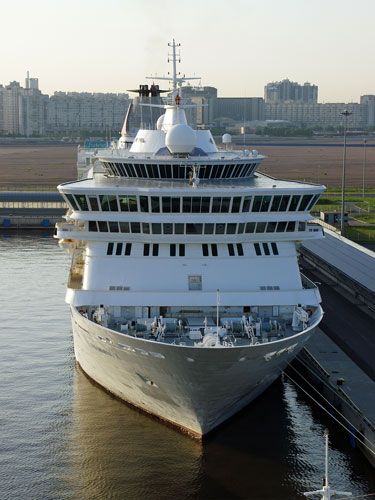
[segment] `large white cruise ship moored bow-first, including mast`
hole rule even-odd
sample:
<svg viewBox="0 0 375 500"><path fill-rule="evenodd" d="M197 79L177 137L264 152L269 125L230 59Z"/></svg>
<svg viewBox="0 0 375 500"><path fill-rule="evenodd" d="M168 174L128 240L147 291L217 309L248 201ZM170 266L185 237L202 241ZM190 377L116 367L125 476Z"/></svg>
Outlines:
<svg viewBox="0 0 375 500"><path fill-rule="evenodd" d="M59 186L55 236L72 254L66 301L76 359L95 382L201 438L262 393L322 319L296 244L323 186L258 172L257 151L218 149L173 99L130 149Z"/></svg>

